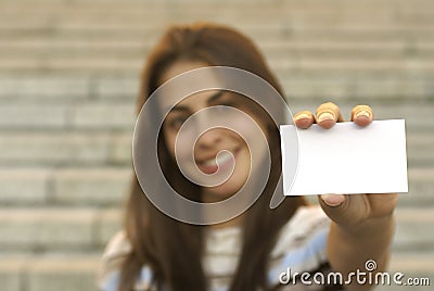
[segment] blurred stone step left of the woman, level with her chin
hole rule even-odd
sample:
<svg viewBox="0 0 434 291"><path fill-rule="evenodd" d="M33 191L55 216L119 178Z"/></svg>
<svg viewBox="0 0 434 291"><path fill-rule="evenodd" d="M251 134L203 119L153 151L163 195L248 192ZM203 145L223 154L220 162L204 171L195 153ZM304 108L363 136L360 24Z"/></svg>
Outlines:
<svg viewBox="0 0 434 291"><path fill-rule="evenodd" d="M131 167L0 169L0 205L119 206Z"/></svg>

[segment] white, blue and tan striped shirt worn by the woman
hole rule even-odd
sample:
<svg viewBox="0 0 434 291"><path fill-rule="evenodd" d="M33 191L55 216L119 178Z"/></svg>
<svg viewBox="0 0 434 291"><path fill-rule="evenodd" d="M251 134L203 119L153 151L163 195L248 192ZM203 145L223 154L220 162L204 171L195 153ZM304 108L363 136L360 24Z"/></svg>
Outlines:
<svg viewBox="0 0 434 291"><path fill-rule="evenodd" d="M330 271L326 254L330 219L319 206L299 207L293 217L280 230L279 239L271 251L268 282L280 287L278 290L341 290L324 286L281 284L281 274L291 269L291 274ZM203 267L209 281L209 291L228 290L241 255L241 229L239 227L209 228L205 235ZM102 257L99 289L117 291L119 265L130 251L124 232L118 232L107 244ZM152 270L143 266L136 291L156 290L152 286Z"/></svg>

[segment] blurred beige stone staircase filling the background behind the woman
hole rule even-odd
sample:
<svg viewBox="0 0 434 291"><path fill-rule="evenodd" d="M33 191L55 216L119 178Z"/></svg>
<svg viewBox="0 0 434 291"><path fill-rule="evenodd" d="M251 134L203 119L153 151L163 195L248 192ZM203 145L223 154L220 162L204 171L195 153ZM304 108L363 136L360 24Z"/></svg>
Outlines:
<svg viewBox="0 0 434 291"><path fill-rule="evenodd" d="M434 283L434 1L0 0L0 289L95 290L132 174L140 69L166 27L193 21L252 37L293 112L334 101L406 118L391 269Z"/></svg>

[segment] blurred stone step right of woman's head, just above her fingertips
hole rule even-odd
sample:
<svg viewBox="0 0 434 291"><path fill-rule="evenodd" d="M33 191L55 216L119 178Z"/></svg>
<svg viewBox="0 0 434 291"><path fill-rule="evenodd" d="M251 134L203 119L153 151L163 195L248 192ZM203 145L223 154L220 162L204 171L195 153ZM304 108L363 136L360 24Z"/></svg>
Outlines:
<svg viewBox="0 0 434 291"><path fill-rule="evenodd" d="M392 76L387 73L365 74L362 72L359 74L348 72L345 76L344 72L333 73L333 71L330 71L329 75L324 75L326 72L322 72L323 74L312 73L278 72L277 75L285 89L288 100L302 103L314 99L321 102L324 97L330 97L336 102L342 100L342 102L374 104L380 102L399 103L408 100L430 102L432 99L431 77L413 78L409 72L407 72L408 76Z"/></svg>

